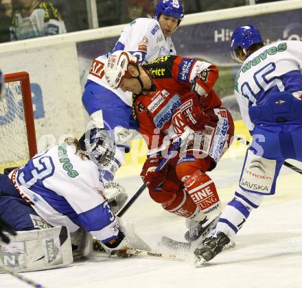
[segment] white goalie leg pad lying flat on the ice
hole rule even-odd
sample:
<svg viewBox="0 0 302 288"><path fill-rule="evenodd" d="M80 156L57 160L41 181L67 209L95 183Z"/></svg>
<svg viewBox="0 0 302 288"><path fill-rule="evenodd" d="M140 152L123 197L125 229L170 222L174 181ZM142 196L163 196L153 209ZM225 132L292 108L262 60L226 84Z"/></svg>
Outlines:
<svg viewBox="0 0 302 288"><path fill-rule="evenodd" d="M19 231L10 243L0 242L0 263L14 272L64 267L73 262L69 230L58 226Z"/></svg>

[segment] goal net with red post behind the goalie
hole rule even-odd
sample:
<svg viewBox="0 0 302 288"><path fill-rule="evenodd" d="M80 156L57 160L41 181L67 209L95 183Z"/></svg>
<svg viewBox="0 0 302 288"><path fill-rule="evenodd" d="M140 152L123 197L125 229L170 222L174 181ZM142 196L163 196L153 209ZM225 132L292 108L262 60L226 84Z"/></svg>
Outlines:
<svg viewBox="0 0 302 288"><path fill-rule="evenodd" d="M0 101L0 173L21 166L37 152L30 77L26 72L4 75Z"/></svg>

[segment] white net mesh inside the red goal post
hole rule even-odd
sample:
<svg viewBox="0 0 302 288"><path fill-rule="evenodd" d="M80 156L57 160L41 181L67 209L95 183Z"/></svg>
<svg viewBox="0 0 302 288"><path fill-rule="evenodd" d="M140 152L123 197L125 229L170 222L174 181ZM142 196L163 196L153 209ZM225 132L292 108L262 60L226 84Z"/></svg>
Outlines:
<svg viewBox="0 0 302 288"><path fill-rule="evenodd" d="M21 166L30 158L20 81L5 83L0 101L0 173Z"/></svg>

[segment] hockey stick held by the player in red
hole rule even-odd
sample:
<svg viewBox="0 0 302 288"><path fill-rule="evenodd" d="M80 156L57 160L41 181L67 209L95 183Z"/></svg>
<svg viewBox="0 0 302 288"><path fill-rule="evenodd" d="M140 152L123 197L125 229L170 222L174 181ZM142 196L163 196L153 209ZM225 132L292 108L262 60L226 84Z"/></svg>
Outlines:
<svg viewBox="0 0 302 288"><path fill-rule="evenodd" d="M163 167L169 162L170 160L169 156L172 154L172 152L175 152L181 146L181 142L183 141L183 139L186 139L191 132L192 132L191 129L185 130L185 132L181 135L181 137L179 137L178 141L174 143L172 149L168 152L167 158L163 158L163 160L161 160L161 163L159 163L159 166L156 167L155 171L160 171L161 169L163 169ZM123 216L126 213L126 211L130 208L130 206L132 206L135 200L137 200L137 197L139 197L139 195L141 195L141 193L143 193L145 189L146 189L146 184L143 183L143 185L141 185L141 188L137 190L137 193L135 193L135 195L132 196L132 198L125 204L125 206L121 208L121 211L117 213L117 217Z"/></svg>

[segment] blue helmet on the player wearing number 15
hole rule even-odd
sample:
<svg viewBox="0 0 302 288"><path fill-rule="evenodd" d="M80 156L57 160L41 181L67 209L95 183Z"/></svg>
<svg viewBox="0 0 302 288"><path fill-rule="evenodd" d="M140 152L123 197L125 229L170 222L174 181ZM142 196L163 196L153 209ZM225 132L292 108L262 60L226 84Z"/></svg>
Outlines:
<svg viewBox="0 0 302 288"><path fill-rule="evenodd" d="M237 63L242 63L236 52L237 47L241 47L246 53L246 49L251 47L251 45L263 42L259 30L254 25L236 27L231 36L231 56L233 60Z"/></svg>

